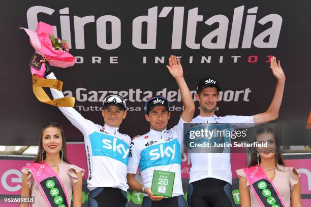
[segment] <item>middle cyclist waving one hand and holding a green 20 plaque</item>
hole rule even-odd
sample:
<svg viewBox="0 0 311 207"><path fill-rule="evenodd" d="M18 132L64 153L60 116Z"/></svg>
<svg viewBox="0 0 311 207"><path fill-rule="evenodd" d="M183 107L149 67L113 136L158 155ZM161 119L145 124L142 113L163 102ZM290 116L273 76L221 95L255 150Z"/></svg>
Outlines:
<svg viewBox="0 0 311 207"><path fill-rule="evenodd" d="M180 171L182 134L183 123L192 120L195 105L183 78L179 59L171 56L167 67L180 89L184 111L178 124L167 130L166 127L171 115L168 100L162 96L155 96L146 102L145 118L150 122L150 131L133 140L127 176L130 188L144 193L143 207L186 206L183 199ZM157 153L161 151L163 153ZM162 155L160 156L160 154ZM141 170L142 184L135 179L138 166ZM175 172L171 198L154 196L151 192L153 170Z"/></svg>

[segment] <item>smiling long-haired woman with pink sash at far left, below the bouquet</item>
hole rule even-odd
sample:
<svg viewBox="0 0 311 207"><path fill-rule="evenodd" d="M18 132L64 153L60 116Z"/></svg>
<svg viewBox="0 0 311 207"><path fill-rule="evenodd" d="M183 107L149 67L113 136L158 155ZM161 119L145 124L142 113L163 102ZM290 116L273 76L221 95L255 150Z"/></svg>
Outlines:
<svg viewBox="0 0 311 207"><path fill-rule="evenodd" d="M72 196L73 206L81 206L84 169L69 164L64 131L58 123L43 126L35 163L21 171L21 196L35 197L33 206L70 206Z"/></svg>

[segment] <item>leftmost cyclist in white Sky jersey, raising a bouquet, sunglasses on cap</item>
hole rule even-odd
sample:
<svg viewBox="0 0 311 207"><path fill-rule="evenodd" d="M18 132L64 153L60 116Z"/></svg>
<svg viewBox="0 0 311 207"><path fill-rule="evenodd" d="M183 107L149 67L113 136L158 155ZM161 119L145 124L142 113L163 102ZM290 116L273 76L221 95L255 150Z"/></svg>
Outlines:
<svg viewBox="0 0 311 207"><path fill-rule="evenodd" d="M46 78L56 79L53 73ZM64 97L55 89L51 88L51 92L54 99ZM85 119L74 108L59 107L59 110L84 136L90 191L88 206L128 206L126 176L131 137L119 132L119 126L127 116L125 100L118 95L105 97L104 126Z"/></svg>

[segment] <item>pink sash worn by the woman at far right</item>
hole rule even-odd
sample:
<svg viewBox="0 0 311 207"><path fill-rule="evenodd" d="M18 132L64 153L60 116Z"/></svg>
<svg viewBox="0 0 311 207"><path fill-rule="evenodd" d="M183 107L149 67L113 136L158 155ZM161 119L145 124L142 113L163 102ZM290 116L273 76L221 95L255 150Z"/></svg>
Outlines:
<svg viewBox="0 0 311 207"><path fill-rule="evenodd" d="M246 167L243 170L261 206L286 207L282 196L273 182L268 179L261 165Z"/></svg>

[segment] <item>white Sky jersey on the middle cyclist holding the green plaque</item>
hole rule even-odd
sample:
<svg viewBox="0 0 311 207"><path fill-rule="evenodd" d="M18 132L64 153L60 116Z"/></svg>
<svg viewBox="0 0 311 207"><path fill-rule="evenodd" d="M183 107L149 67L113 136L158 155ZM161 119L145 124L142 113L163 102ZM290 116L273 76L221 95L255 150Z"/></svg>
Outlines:
<svg viewBox="0 0 311 207"><path fill-rule="evenodd" d="M148 133L134 139L131 144L128 173L136 174L139 166L142 184L151 188L153 170L175 172L172 196L183 195L180 171L183 123L180 118L178 124L169 130L150 129Z"/></svg>

